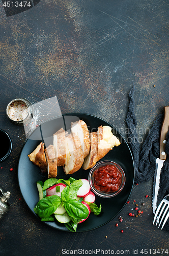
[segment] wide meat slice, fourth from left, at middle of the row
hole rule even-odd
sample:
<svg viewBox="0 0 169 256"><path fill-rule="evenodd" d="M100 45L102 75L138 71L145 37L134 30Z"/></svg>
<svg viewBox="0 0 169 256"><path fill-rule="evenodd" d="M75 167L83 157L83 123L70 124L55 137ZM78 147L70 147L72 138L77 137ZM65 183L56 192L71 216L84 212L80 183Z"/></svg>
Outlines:
<svg viewBox="0 0 169 256"><path fill-rule="evenodd" d="M79 170L83 164L83 152L78 136L72 134L66 137L66 162L64 165L64 172L66 174L73 174Z"/></svg>

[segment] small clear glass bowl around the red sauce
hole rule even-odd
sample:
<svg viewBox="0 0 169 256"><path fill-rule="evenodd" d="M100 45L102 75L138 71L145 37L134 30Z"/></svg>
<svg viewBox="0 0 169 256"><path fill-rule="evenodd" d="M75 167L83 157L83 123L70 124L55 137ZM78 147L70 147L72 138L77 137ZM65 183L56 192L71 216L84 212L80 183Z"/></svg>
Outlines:
<svg viewBox="0 0 169 256"><path fill-rule="evenodd" d="M106 166L106 165L114 165L118 168L118 170L121 172L122 174L122 181L121 181L121 184L119 186L119 189L117 191L112 191L112 192L104 192L104 191L100 191L98 189L95 188L95 185L94 185L94 172L96 169L100 168L101 166ZM122 189L124 188L124 185L125 185L125 182L126 182L126 177L125 177L125 173L124 173L124 170L122 169L122 167L115 163L115 162L112 162L112 161L101 161L99 163L97 163L91 170L90 170L90 173L89 173L89 183L90 183L90 187L91 189L93 190L93 192L99 196L99 197L103 197L103 198L110 198L110 197L115 197L117 196L121 191Z"/></svg>

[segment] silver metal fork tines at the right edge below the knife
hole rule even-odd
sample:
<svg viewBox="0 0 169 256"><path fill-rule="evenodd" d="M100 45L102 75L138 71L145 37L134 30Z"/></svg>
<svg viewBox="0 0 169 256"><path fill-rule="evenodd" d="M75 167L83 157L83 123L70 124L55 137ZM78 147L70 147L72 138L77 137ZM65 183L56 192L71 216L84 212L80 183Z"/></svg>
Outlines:
<svg viewBox="0 0 169 256"><path fill-rule="evenodd" d="M163 226L165 225L165 222L167 221L168 217L169 217L169 194L162 199L161 203L156 209L153 225L155 222L156 222L156 226L158 225L158 227L160 227L160 225L162 224L161 229L163 229Z"/></svg>

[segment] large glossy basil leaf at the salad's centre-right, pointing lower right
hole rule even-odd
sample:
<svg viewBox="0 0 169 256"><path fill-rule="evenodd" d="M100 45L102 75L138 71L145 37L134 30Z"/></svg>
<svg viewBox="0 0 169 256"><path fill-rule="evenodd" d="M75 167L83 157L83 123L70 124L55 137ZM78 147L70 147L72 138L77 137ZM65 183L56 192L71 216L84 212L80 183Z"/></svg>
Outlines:
<svg viewBox="0 0 169 256"><path fill-rule="evenodd" d="M88 208L75 199L69 199L64 203L67 214L76 219L86 219L89 215Z"/></svg>

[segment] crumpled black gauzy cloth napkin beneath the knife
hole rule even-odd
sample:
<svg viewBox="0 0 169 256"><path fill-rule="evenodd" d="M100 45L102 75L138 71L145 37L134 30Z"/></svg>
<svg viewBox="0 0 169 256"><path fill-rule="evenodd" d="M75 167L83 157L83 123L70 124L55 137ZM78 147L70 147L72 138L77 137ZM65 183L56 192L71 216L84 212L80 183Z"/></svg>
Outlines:
<svg viewBox="0 0 169 256"><path fill-rule="evenodd" d="M129 107L126 118L128 133L128 145L133 155L135 179L136 183L146 182L150 178L154 177L154 171L156 168L156 158L159 157L159 136L164 114L159 114L150 129L147 138L143 142L142 147L138 142L137 136L137 120L134 114L134 90L135 87L129 92ZM166 160L161 168L160 186L157 197L157 205L161 202L164 196L169 194L169 132L166 136ZM169 231L169 220L166 222L164 228Z"/></svg>

